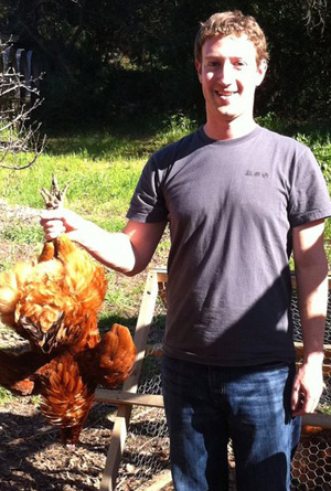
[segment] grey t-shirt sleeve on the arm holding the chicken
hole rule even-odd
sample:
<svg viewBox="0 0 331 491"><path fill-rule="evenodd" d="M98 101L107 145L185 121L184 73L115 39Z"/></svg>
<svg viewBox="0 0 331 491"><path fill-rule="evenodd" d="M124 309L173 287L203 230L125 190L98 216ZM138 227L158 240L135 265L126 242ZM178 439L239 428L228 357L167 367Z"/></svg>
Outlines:
<svg viewBox="0 0 331 491"><path fill-rule="evenodd" d="M132 195L127 218L135 222L166 222L168 210L162 195L162 171L152 156L145 166Z"/></svg>

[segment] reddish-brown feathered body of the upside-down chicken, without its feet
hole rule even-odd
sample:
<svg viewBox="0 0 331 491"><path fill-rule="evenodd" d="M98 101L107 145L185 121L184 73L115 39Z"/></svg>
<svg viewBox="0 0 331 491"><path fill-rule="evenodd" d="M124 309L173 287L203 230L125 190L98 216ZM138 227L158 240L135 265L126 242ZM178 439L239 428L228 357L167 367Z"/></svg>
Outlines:
<svg viewBox="0 0 331 491"><path fill-rule="evenodd" d="M64 444L78 441L97 385L117 387L135 363L127 328L114 324L100 337L106 288L104 267L66 234L46 242L36 260L0 274L1 321L30 342L20 354L0 350L0 385L41 395Z"/></svg>

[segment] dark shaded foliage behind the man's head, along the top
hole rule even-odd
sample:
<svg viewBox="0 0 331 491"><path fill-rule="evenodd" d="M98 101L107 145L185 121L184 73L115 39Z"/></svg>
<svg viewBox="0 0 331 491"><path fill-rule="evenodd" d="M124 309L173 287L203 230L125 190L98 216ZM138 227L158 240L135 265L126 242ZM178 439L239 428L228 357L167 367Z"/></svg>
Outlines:
<svg viewBox="0 0 331 491"><path fill-rule="evenodd" d="M194 70L199 23L242 10L266 32L270 63L257 111L331 116L331 7L309 0L2 0L0 31L33 49L46 76L40 116L57 128L182 110L204 114ZM305 74L305 75L302 75Z"/></svg>

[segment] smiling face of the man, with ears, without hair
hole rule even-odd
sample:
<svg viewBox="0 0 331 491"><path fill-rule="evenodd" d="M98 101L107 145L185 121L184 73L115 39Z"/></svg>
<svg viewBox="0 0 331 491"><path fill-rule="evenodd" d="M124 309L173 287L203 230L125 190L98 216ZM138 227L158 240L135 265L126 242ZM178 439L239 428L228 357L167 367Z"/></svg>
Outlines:
<svg viewBox="0 0 331 491"><path fill-rule="evenodd" d="M256 86L267 64L256 64L256 50L246 34L214 36L202 46L202 61L195 61L206 103L207 120L232 121L253 118Z"/></svg>

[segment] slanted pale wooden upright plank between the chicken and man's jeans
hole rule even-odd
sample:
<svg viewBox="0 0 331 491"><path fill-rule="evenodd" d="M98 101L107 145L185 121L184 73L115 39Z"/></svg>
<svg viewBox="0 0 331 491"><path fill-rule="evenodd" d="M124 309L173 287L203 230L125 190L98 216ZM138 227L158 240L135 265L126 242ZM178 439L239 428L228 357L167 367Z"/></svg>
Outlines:
<svg viewBox="0 0 331 491"><path fill-rule="evenodd" d="M158 296L157 273L151 270L146 280L146 286L141 299L139 316L137 320L134 341L137 348L137 356L134 370L129 378L124 384L124 391L137 393L139 376L146 351L147 338L153 318L154 306ZM115 419L111 439L108 448L105 470L103 473L100 491L114 491L120 459L124 452L127 427L131 416L132 405L120 404Z"/></svg>

